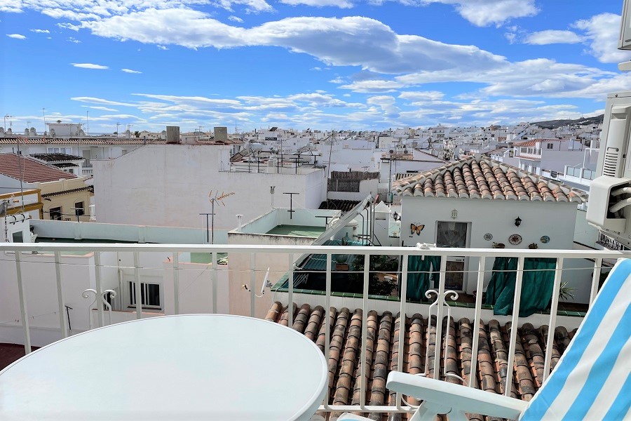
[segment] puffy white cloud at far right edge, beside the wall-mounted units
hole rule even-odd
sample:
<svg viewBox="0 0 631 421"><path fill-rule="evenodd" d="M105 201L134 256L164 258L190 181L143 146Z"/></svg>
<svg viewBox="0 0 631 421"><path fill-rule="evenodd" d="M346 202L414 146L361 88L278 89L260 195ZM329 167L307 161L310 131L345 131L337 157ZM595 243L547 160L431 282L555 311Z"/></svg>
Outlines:
<svg viewBox="0 0 631 421"><path fill-rule="evenodd" d="M574 22L574 27L585 31L589 53L604 63L618 63L629 60L631 54L618 50L620 15L602 13L590 19Z"/></svg>

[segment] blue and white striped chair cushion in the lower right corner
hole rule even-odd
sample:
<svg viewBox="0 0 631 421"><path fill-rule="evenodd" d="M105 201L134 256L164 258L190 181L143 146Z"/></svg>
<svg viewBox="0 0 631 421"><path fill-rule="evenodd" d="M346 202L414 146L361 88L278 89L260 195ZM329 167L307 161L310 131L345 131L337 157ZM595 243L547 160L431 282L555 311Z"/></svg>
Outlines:
<svg viewBox="0 0 631 421"><path fill-rule="evenodd" d="M618 421L631 416L630 301L631 259L625 259L611 270L521 421Z"/></svg>

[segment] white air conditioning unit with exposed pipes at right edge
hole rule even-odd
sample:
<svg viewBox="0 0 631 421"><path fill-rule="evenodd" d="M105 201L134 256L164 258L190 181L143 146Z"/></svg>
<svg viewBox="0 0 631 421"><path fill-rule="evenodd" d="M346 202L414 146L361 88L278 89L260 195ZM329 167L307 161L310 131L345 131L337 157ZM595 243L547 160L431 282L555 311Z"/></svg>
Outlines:
<svg viewBox="0 0 631 421"><path fill-rule="evenodd" d="M587 220L631 244L631 92L607 96L597 174L590 186Z"/></svg>

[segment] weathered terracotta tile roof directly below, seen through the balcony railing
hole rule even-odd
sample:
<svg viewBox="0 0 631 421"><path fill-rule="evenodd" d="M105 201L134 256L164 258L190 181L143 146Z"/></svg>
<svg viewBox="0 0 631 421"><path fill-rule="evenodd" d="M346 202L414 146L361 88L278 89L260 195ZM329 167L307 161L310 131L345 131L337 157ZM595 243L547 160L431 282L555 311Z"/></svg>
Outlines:
<svg viewBox="0 0 631 421"><path fill-rule="evenodd" d="M289 312L280 302L274 302L266 319L283 326L291 326L303 333L306 338L315 342L320 350L325 349L325 310L321 306L313 307L305 304L298 308L295 304L294 320L288 323ZM330 318L330 355L328 403L335 405L358 405L360 403L360 372L362 310L351 311L347 308L331 307ZM446 321L447 319L445 319ZM444 373L445 354L447 354L447 373L463 377L469 381L471 366L471 347L473 331L469 319L449 321L447 340L442 341L441 373ZM386 378L391 370L405 373L425 373L426 355L429 354L430 369L433 376L435 347L426 346L426 338L434 338L436 319L431 323L420 314L405 318L405 344L403 349L403 366L398 367L400 316L391 312L378 314L370 311L367 314L367 390L368 405L394 405L396 394L386 389ZM477 385L490 393L503 394L506 385L506 369L508 366L508 338L510 323L501 325L496 320L487 324L481 323L480 340L477 349ZM559 361L576 330L568 332L566 328L555 329L555 343L552 349L552 368ZM535 328L530 323L518 330L515 347L515 365L513 379L515 386L510 395L517 399L529 401L543 382L543 364L545 343L548 338L548 327ZM280 358L280 357L279 357ZM460 383L455 377L440 376L441 380ZM414 399L409 403L418 404ZM381 417L374 418L381 419ZM470 420L483 418L470 417Z"/></svg>

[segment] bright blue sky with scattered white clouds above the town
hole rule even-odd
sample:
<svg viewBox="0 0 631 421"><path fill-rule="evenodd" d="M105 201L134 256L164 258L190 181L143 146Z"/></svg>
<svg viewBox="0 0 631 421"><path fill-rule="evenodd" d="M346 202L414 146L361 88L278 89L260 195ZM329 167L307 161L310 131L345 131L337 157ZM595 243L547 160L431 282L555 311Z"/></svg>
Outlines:
<svg viewBox="0 0 631 421"><path fill-rule="evenodd" d="M599 114L622 0L1 0L0 112L90 133ZM42 112L44 109L44 112Z"/></svg>

